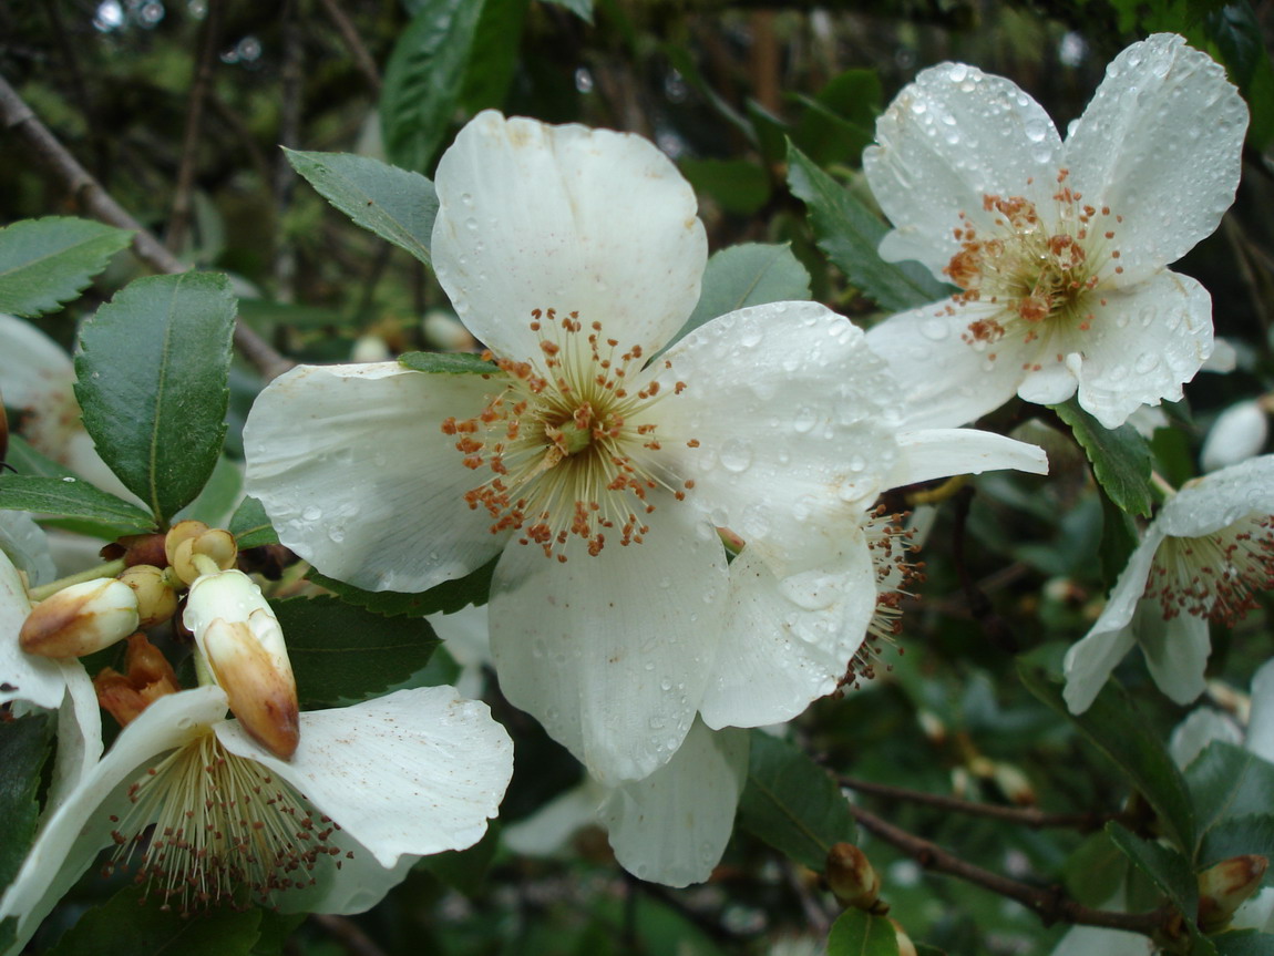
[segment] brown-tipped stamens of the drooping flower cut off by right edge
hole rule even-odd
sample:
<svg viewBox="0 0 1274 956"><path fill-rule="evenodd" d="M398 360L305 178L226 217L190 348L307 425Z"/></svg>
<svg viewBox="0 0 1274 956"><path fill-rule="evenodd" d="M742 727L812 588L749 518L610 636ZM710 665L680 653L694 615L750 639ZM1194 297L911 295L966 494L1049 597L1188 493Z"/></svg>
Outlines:
<svg viewBox="0 0 1274 956"><path fill-rule="evenodd" d="M1163 619L1185 612L1233 625L1256 607L1252 591L1274 588L1274 515L1251 514L1198 538L1164 538L1154 552L1147 598Z"/></svg>

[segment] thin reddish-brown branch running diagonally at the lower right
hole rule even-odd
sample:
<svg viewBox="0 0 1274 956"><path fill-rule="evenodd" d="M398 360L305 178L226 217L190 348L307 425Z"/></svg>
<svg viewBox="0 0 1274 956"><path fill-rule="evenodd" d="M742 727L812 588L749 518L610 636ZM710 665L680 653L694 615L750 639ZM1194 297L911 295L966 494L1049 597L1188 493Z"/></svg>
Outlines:
<svg viewBox="0 0 1274 956"><path fill-rule="evenodd" d="M992 873L989 869L982 869L973 863L967 863L959 857L948 853L929 840L882 820L861 807L856 807L852 803L848 806L850 812L854 813L855 820L859 821L864 830L897 846L925 869L931 869L935 873L947 873L1000 896L1017 900L1040 916L1045 925L1063 922L1074 925L1122 929L1129 933L1154 936L1157 933L1171 932L1176 922L1177 914L1171 906L1162 906L1148 913L1115 913L1113 910L1094 910L1089 906L1083 906L1065 896L1059 887L1031 886L1029 883Z"/></svg>

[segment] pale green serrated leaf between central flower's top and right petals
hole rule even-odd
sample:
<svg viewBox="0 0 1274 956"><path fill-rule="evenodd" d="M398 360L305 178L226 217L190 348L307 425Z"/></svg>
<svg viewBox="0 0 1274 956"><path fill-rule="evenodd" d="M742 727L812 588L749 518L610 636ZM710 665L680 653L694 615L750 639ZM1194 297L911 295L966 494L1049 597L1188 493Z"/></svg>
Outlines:
<svg viewBox="0 0 1274 956"><path fill-rule="evenodd" d="M722 249L708 259L699 301L669 345L736 308L805 300L809 300L809 273L786 242Z"/></svg>

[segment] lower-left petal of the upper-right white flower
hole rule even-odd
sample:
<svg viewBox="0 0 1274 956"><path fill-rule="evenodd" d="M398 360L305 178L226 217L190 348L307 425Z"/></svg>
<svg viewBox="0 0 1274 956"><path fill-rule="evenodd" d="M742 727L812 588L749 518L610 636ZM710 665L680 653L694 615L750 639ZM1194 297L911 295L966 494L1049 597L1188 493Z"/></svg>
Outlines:
<svg viewBox="0 0 1274 956"><path fill-rule="evenodd" d="M868 345L902 385L910 427L972 422L1012 399L1022 381L1019 343L1003 339L987 349L961 338L970 322L996 315L999 306L971 303L949 315L949 305L920 306L868 330Z"/></svg>

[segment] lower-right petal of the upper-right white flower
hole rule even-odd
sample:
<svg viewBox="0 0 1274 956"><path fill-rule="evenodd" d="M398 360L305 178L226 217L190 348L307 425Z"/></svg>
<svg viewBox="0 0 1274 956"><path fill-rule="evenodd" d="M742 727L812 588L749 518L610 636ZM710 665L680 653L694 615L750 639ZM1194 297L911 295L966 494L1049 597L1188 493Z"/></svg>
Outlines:
<svg viewBox="0 0 1274 956"><path fill-rule="evenodd" d="M1093 305L1079 368L1079 404L1107 428L1142 405L1181 398L1212 353L1212 297L1189 275L1162 272Z"/></svg>

